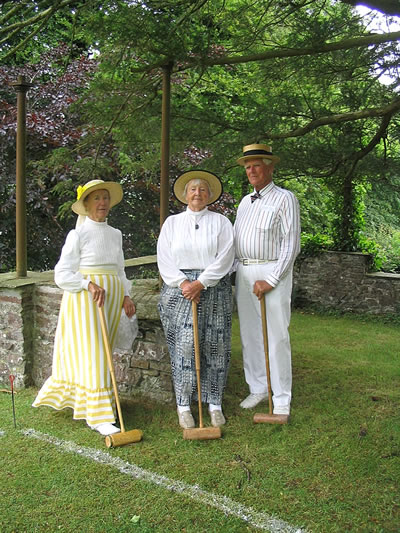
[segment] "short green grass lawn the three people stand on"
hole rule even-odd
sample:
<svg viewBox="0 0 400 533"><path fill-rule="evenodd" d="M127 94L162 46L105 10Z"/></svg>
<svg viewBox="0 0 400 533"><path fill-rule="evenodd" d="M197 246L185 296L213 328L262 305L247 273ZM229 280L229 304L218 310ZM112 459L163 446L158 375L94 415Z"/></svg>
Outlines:
<svg viewBox="0 0 400 533"><path fill-rule="evenodd" d="M107 450L69 410L30 407L36 391L0 394L0 531L257 531L178 491L29 438L34 428L169 480L226 496L311 532L400 531L400 332L397 325L295 312L292 416L254 425L235 318L223 438L184 441L173 407L123 402L138 444ZM208 416L205 413L205 423ZM140 517L140 518L137 518Z"/></svg>

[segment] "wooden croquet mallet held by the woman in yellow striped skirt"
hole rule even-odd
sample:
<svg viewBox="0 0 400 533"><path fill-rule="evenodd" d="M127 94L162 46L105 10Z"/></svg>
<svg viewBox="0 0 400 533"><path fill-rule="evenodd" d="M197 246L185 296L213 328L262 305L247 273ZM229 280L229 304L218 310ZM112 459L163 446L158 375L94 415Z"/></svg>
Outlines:
<svg viewBox="0 0 400 533"><path fill-rule="evenodd" d="M118 446L124 446L125 444L133 444L134 442L139 442L142 440L143 432L140 429L132 429L130 431L125 431L124 420L122 418L121 404L119 401L119 394L117 388L117 381L115 379L114 364L111 354L111 345L110 339L108 336L107 323L104 316L104 307L99 307L99 316L101 324L101 333L103 336L104 348L107 355L108 368L111 374L111 381L114 389L115 403L117 405L119 423L121 426L121 433L114 433L113 435L107 435L105 438L105 443L107 448L116 448Z"/></svg>

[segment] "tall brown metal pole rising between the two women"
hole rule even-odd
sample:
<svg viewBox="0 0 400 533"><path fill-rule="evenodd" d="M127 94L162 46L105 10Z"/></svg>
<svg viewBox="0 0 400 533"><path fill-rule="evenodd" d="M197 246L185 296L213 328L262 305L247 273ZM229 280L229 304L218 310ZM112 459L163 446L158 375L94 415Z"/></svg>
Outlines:
<svg viewBox="0 0 400 533"><path fill-rule="evenodd" d="M161 179L160 179L160 228L168 216L169 205L169 138L171 108L172 63L163 67L161 110Z"/></svg>

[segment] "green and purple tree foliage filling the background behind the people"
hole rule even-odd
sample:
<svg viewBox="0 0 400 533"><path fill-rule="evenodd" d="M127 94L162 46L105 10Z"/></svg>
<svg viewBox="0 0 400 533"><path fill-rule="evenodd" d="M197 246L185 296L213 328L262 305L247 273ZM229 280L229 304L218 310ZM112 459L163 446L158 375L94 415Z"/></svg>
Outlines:
<svg viewBox="0 0 400 533"><path fill-rule="evenodd" d="M42 14L51 4L25 2L25 18L30 11ZM368 110L395 100L395 84L384 86L377 75L379 69L393 71L398 52L394 44L383 43L317 53L327 41L366 34L364 21L348 5L323 0L90 0L63 6L54 11L40 39L8 58L10 70L1 79L7 121L0 124L5 141L0 170L11 184L0 189L5 202L14 190L15 109L8 86L17 74L13 68L18 66L37 84L29 92L28 122L35 124L30 138L35 142L28 147L29 227L40 226L45 242L54 246L44 257L35 233L29 242L32 267L54 264L54 250L73 226L69 207L76 187L93 177L123 183L124 204L113 210L112 219L124 232L126 254L154 252L162 74L170 65L171 184L188 168L216 172L227 193L217 207L233 219L233 206L248 192L243 169L236 165L242 146L271 142L281 156L274 180L298 196L305 234L324 235L343 251L373 250L370 241L376 241L386 264L394 268L391 240L374 234L379 217L371 198L388 206L379 227L390 228L389 233L398 229L393 200L400 166L398 115L383 128L381 114ZM10 9L11 3L2 5L0 19ZM21 7L10 24L19 24L23 12ZM3 51L27 35L28 27L18 27L20 36L9 37ZM316 53L289 54L302 49ZM266 51L282 57L248 61ZM237 56L246 61L210 63ZM360 110L365 117L354 120L351 114ZM370 189L377 177L385 185ZM9 205L2 212L8 219ZM171 198L170 212L179 209ZM39 210L46 216L38 215ZM0 222L3 250L13 247L8 226L9 221ZM315 237L306 248L317 244ZM12 267L3 257L1 268Z"/></svg>

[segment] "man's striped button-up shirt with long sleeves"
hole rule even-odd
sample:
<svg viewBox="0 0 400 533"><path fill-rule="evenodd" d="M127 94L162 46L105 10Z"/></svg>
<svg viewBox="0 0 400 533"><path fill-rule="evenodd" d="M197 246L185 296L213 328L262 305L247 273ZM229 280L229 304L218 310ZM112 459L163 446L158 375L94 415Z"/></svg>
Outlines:
<svg viewBox="0 0 400 533"><path fill-rule="evenodd" d="M300 209L295 195L270 182L251 202L251 194L239 204L235 222L238 259L276 261L266 281L275 287L293 267L300 251Z"/></svg>

